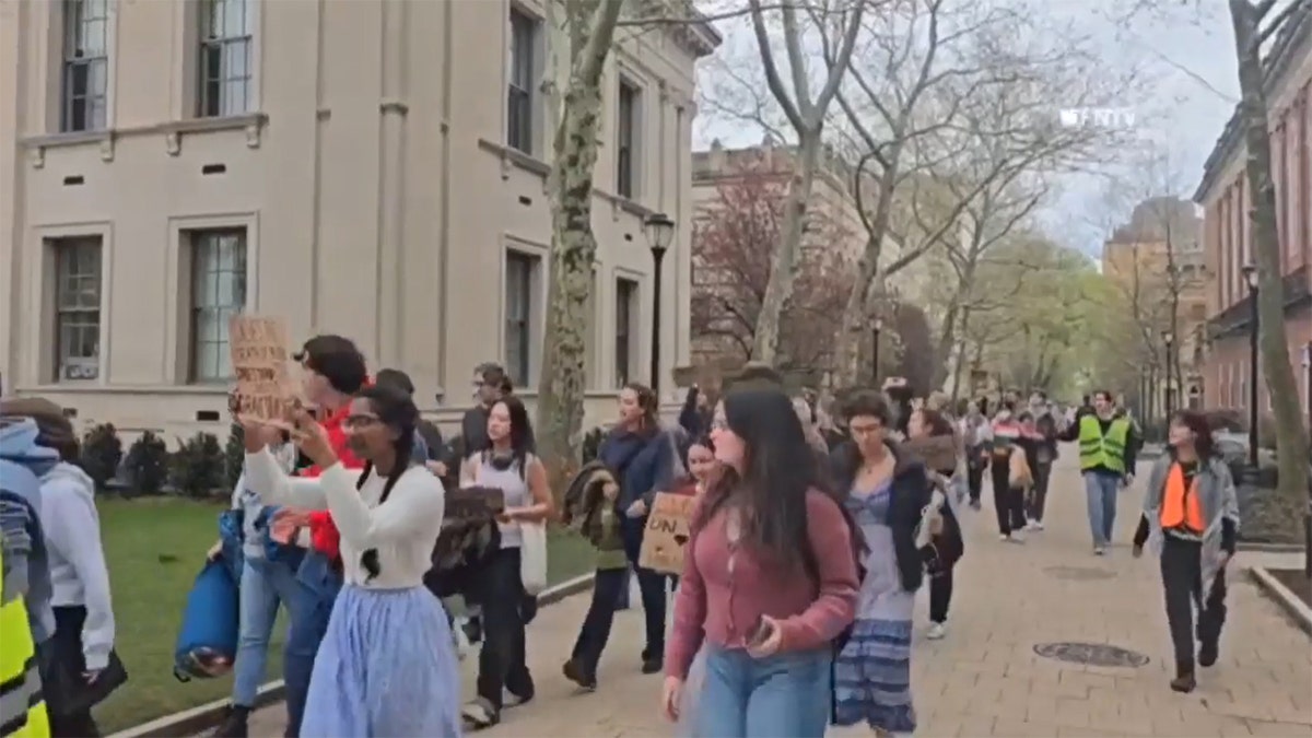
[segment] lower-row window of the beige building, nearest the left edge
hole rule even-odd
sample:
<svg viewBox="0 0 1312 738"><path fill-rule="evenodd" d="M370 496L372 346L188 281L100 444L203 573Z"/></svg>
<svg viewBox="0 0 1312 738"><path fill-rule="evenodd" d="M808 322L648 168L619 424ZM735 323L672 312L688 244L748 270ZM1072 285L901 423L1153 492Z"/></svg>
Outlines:
<svg viewBox="0 0 1312 738"><path fill-rule="evenodd" d="M55 378L100 376L100 236L55 247Z"/></svg>

